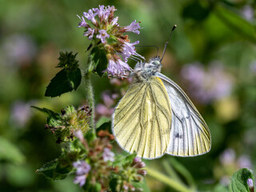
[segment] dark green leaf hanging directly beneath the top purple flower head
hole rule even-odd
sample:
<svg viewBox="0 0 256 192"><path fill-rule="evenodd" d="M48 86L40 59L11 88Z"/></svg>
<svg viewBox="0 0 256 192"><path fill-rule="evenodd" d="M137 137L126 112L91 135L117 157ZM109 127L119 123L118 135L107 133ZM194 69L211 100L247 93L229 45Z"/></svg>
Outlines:
<svg viewBox="0 0 256 192"><path fill-rule="evenodd" d="M90 52L91 66L96 70L97 74L102 77L107 67L106 51L95 46Z"/></svg>

